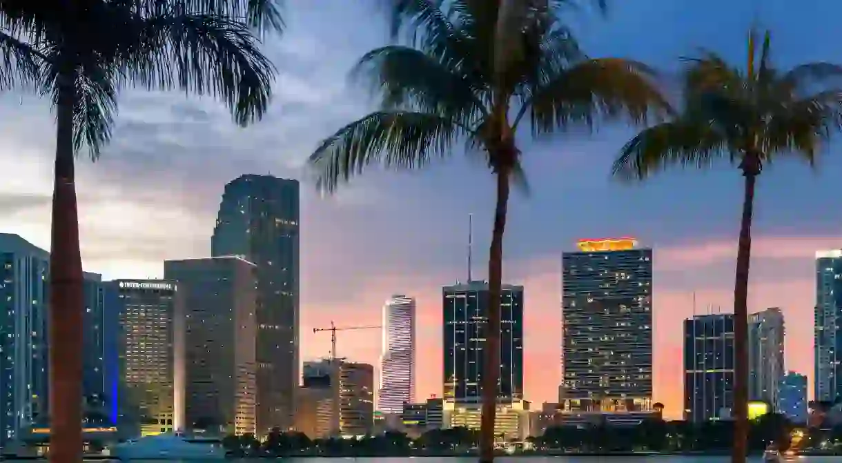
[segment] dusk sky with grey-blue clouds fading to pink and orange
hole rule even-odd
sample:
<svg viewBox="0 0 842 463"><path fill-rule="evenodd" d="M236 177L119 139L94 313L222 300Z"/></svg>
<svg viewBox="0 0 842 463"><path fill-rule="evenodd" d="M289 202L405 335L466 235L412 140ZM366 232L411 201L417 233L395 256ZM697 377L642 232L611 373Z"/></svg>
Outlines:
<svg viewBox="0 0 842 463"><path fill-rule="evenodd" d="M467 215L474 214L474 275L486 274L493 182L461 152L417 173L372 169L332 198L303 171L322 137L373 108L346 73L386 41L371 0L288 0L289 24L265 50L279 68L270 114L248 129L221 104L180 93L126 91L115 140L99 162L82 159L79 207L85 269L104 278L163 275L163 260L210 255L224 185L243 173L300 178L302 359L328 354L338 326L376 325L394 293L418 300L418 398L441 394L441 286L466 277ZM842 3L824 0L616 0L607 19L570 18L591 56L621 56L674 71L705 46L744 61L746 31L770 28L781 66L842 62ZM49 248L53 119L46 100L0 96L0 231ZM530 194L514 194L504 279L525 285L525 389L557 399L561 376L561 253L581 237L633 236L654 248L655 400L681 409L681 324L708 305L732 310L742 177L720 164L618 184L610 163L632 135L531 142L520 136ZM814 253L842 247L842 142L815 171L775 162L759 178L749 311L786 315L786 367L813 381ZM377 364L376 332L338 335L338 354ZM812 388L812 386L811 386ZM812 392L811 392L812 394Z"/></svg>

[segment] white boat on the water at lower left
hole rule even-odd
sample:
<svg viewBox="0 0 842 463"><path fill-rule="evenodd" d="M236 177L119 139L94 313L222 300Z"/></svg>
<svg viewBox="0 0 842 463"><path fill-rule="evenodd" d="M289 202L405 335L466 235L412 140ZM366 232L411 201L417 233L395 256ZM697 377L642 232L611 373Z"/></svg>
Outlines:
<svg viewBox="0 0 842 463"><path fill-rule="evenodd" d="M187 439L182 434L158 434L127 440L110 450L116 460L224 460L218 440Z"/></svg>

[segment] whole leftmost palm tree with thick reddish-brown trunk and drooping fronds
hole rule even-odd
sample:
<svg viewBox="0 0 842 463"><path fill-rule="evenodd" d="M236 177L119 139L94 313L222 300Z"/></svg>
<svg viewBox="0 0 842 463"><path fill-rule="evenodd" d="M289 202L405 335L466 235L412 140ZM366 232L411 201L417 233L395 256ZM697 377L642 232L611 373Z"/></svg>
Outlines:
<svg viewBox="0 0 842 463"><path fill-rule="evenodd" d="M237 123L269 103L274 69L255 34L281 26L276 0L0 0L0 86L34 85L56 109L50 293L51 460L82 450L83 276L75 155L111 137L120 89L221 98Z"/></svg>

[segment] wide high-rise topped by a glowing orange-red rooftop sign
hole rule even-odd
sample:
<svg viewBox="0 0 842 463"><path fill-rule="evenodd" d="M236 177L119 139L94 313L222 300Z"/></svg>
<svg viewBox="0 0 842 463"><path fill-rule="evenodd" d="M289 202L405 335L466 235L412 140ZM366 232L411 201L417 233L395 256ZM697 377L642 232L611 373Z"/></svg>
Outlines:
<svg viewBox="0 0 842 463"><path fill-rule="evenodd" d="M580 240L562 255L566 412L652 409L652 249L633 238Z"/></svg>

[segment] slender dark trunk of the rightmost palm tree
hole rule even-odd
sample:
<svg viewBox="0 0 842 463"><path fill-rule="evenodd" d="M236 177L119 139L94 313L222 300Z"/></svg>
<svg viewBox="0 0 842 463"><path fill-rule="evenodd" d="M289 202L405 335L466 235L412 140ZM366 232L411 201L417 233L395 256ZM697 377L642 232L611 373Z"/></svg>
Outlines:
<svg viewBox="0 0 842 463"><path fill-rule="evenodd" d="M751 263L751 216L754 210L754 184L760 171L759 158L746 155L741 168L745 177L743 219L737 247L737 274L734 281L734 442L732 463L745 463L749 437L749 265Z"/></svg>

